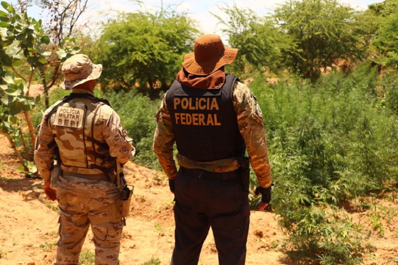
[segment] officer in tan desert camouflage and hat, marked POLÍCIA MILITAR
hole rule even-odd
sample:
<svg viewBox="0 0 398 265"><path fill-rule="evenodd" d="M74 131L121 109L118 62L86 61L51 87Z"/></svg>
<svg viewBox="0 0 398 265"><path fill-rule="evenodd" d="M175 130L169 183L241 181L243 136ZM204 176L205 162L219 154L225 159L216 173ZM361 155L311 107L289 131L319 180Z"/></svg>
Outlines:
<svg viewBox="0 0 398 265"><path fill-rule="evenodd" d="M62 71L64 88L73 92L45 111L34 152L45 194L61 210L56 264L79 263L91 225L96 265L116 265L123 220L114 164L132 159L135 149L109 103L94 97L102 65L77 54ZM55 156L63 172L56 190L50 186Z"/></svg>

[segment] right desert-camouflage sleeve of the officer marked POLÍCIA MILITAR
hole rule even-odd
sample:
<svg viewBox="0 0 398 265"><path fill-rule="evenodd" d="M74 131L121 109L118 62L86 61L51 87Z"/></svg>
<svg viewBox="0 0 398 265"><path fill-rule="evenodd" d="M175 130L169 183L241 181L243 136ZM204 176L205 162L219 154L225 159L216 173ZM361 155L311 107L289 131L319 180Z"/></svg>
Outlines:
<svg viewBox="0 0 398 265"><path fill-rule="evenodd" d="M121 126L119 115L114 110L110 110L110 112L104 123L103 137L109 145L110 156L115 157L117 162L125 164L135 154L133 139L127 135L127 131ZM102 113L106 113L106 109L101 112L101 115Z"/></svg>

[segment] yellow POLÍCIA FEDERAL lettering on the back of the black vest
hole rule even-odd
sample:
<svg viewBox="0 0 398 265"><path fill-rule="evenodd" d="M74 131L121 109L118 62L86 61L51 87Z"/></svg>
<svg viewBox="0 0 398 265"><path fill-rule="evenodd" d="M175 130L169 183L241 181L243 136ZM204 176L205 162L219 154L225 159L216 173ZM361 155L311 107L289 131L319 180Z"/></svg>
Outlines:
<svg viewBox="0 0 398 265"><path fill-rule="evenodd" d="M173 99L176 125L221 126L221 96Z"/></svg>

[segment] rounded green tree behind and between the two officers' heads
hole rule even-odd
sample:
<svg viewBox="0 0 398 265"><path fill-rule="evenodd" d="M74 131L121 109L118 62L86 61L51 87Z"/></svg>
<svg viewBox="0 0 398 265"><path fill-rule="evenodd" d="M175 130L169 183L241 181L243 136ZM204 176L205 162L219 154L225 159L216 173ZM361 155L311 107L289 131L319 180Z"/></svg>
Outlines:
<svg viewBox="0 0 398 265"><path fill-rule="evenodd" d="M193 23L186 13L162 8L154 13L121 13L105 24L92 55L103 65L103 87L138 87L144 94L167 89L183 55L192 52L199 33Z"/></svg>

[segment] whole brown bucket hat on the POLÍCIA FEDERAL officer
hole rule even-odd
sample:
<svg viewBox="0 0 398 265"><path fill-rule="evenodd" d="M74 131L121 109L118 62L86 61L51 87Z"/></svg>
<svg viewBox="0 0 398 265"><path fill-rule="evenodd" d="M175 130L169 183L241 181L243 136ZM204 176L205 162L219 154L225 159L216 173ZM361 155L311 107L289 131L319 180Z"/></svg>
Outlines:
<svg viewBox="0 0 398 265"><path fill-rule="evenodd" d="M238 49L224 47L220 36L206 34L195 40L194 52L184 57L184 69L193 75L209 75L220 67L231 64Z"/></svg>

